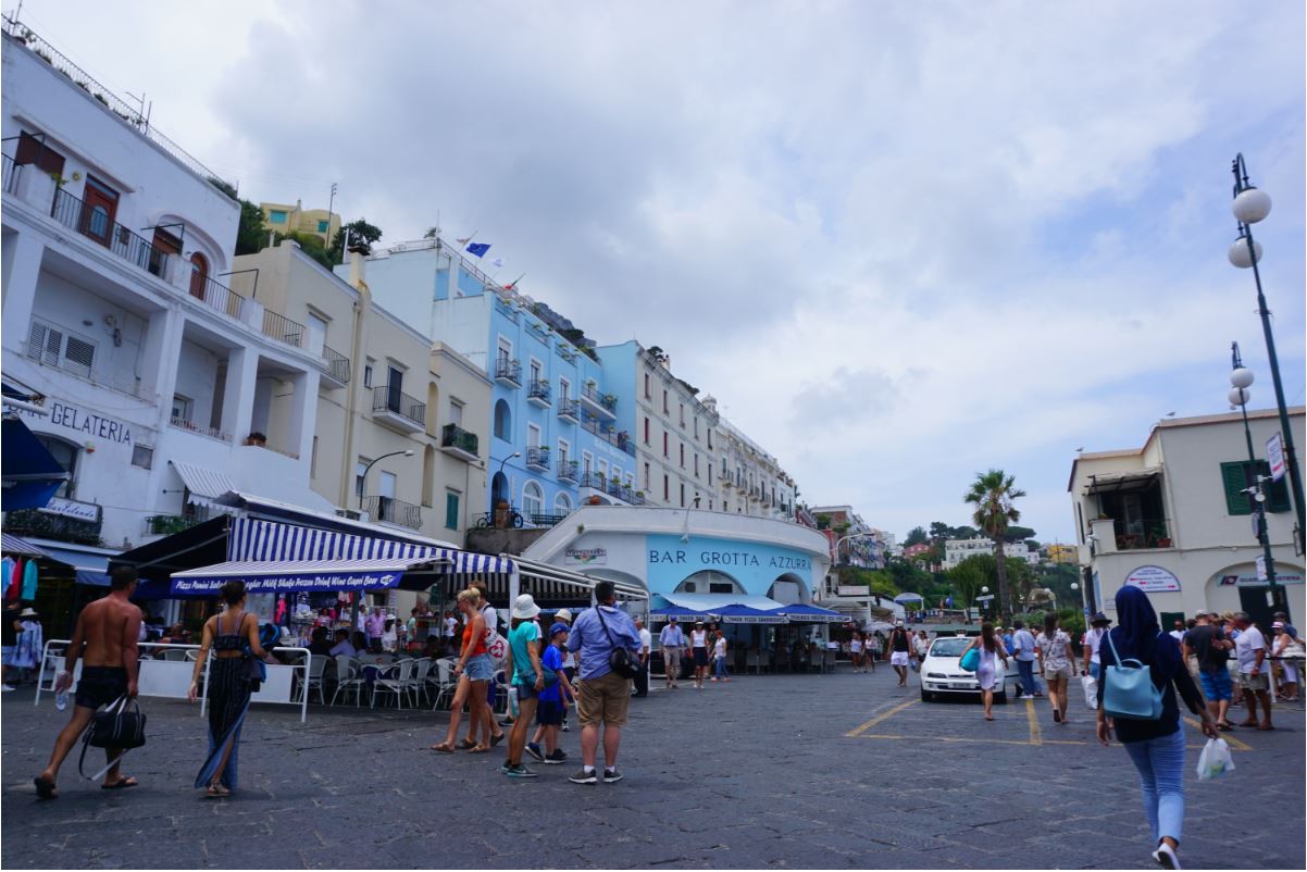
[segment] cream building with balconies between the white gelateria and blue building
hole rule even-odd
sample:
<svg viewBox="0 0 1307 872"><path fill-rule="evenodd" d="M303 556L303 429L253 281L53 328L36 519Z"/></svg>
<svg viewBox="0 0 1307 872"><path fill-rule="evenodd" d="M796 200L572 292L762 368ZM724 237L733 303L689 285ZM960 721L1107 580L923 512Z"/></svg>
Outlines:
<svg viewBox="0 0 1307 872"><path fill-rule="evenodd" d="M490 380L372 305L362 263L345 281L286 241L234 269L257 269L248 293L323 336L312 489L369 520L461 545L486 488Z"/></svg>

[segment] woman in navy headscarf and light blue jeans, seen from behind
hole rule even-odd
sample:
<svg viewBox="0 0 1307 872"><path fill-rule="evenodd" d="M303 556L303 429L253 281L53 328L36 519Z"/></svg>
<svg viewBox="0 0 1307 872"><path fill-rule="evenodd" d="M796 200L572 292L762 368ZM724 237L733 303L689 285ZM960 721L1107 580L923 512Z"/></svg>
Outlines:
<svg viewBox="0 0 1307 872"><path fill-rule="evenodd" d="M1108 744L1111 731L1116 729L1116 737L1125 745L1131 762L1140 773L1144 813L1157 842L1153 859L1163 868L1178 869L1180 863L1175 851L1180 846L1184 822L1184 729L1180 727L1175 692L1179 690L1189 711L1202 719L1204 735L1216 739L1219 733L1184 665L1179 643L1158 626L1148 594L1131 584L1119 590L1116 616L1119 625L1098 650L1103 675L1098 682L1098 740ZM1149 667L1153 685L1162 693L1162 716L1157 720L1108 720L1103 711L1108 667L1131 659Z"/></svg>

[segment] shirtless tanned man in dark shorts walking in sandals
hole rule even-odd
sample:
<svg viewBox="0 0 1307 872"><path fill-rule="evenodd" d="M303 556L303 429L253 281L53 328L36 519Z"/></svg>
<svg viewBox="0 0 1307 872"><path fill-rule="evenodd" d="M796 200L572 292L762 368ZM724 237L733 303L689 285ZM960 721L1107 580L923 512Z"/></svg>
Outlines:
<svg viewBox="0 0 1307 872"><path fill-rule="evenodd" d="M136 696L136 642L141 629L141 609L131 603L135 591L136 570L119 566L114 570L108 596L95 600L77 616L77 626L64 655L64 671L55 680L55 692L59 693L72 684L78 656L82 659L82 675L77 682L73 715L55 739L50 765L33 779L41 799L59 796L55 790L59 767L86 732L95 710L114 702L124 693L128 697ZM82 651L84 643L85 651ZM106 748L105 760L112 762L122 753L122 748ZM102 787L103 790L136 787L136 779L124 777L115 763L105 773Z"/></svg>

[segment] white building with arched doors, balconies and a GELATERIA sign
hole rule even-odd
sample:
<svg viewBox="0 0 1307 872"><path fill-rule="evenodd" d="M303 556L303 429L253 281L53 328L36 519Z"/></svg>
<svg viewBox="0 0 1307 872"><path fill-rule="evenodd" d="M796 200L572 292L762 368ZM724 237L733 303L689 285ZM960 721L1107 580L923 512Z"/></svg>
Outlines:
<svg viewBox="0 0 1307 872"><path fill-rule="evenodd" d="M322 336L225 284L238 204L20 33L3 37L3 369L44 397L27 425L71 480L7 527L102 569L203 514L205 471L331 509L308 489Z"/></svg>

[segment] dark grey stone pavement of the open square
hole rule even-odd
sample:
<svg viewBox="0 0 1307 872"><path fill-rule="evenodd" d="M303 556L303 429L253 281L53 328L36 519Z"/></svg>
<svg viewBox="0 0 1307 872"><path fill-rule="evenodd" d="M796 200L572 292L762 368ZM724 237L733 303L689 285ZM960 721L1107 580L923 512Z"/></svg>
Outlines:
<svg viewBox="0 0 1307 872"><path fill-rule="evenodd" d="M623 782L583 787L575 766L498 774L498 753L437 756L446 715L261 707L246 724L238 797L191 790L203 756L195 707L145 701L141 787L105 794L76 758L61 797L31 777L63 715L31 692L3 697L5 868L1146 868L1134 770L1047 703L921 702L872 676L737 677L631 702ZM1239 710L1236 710L1238 713ZM1236 716L1240 716L1236 714ZM1233 736L1238 771L1200 783L1192 726L1185 839L1193 868L1303 868L1303 711ZM578 732L563 748L579 760ZM498 749L497 749L498 752ZM1249 809L1255 800L1255 811Z"/></svg>

